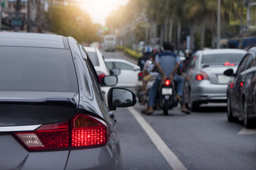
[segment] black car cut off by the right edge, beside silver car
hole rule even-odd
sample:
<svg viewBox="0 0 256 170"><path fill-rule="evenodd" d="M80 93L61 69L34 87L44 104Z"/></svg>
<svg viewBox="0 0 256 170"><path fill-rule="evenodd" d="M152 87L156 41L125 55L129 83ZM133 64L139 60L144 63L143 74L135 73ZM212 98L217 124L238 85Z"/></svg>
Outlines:
<svg viewBox="0 0 256 170"><path fill-rule="evenodd" d="M235 118L242 120L245 128L255 123L256 102L256 47L248 50L238 66L237 72L227 69L224 74L233 77L227 89L227 118L232 122Z"/></svg>

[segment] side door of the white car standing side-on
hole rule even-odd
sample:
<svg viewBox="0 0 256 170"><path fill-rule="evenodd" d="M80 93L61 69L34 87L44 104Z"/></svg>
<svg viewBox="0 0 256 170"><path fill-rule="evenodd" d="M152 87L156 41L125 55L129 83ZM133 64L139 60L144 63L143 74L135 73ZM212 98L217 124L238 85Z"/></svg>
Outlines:
<svg viewBox="0 0 256 170"><path fill-rule="evenodd" d="M116 86L135 86L137 82L137 74L139 71L134 70L134 67L124 62L114 62L114 68L121 70Z"/></svg>

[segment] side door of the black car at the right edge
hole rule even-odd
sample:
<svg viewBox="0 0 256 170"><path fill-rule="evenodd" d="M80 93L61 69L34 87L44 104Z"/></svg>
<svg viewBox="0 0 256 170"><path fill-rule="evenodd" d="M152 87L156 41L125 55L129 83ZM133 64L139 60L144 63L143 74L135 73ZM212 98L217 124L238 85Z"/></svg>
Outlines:
<svg viewBox="0 0 256 170"><path fill-rule="evenodd" d="M233 88L230 89L230 100L231 107L240 115L242 113L242 88L243 88L243 82L242 72L245 70L245 65L247 62L247 59L250 57L250 55L245 55L245 57L242 59L238 66L238 70L235 74L235 77L233 79Z"/></svg>

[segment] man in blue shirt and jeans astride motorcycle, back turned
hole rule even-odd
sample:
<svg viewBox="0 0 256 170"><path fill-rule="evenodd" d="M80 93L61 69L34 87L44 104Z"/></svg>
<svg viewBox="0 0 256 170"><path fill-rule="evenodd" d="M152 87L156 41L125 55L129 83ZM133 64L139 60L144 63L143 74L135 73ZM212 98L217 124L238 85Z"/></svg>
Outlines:
<svg viewBox="0 0 256 170"><path fill-rule="evenodd" d="M171 42L164 42L163 44L164 52L161 52L159 55L156 55L156 66L154 67L159 70L159 76L154 81L153 86L149 91L149 103L146 110L143 112L146 115L150 115L154 112L154 98L156 97L156 93L159 89L159 85L161 81L166 81L166 78L169 78L171 81L174 81L177 89L177 98L181 104L181 111L183 113L189 114L190 112L186 108L186 104L182 100L182 89L183 89L183 78L176 74L177 69L180 67L180 60L178 55L176 55L174 51L174 46L171 45Z"/></svg>

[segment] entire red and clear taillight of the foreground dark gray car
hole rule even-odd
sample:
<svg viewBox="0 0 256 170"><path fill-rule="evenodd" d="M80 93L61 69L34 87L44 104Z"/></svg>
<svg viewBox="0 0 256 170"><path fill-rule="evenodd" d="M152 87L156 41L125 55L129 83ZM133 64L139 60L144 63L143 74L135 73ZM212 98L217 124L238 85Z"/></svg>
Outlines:
<svg viewBox="0 0 256 170"><path fill-rule="evenodd" d="M14 135L30 151L70 147L79 149L106 145L110 130L101 120L78 113L64 123L42 125L34 131L14 132Z"/></svg>

